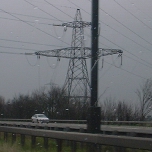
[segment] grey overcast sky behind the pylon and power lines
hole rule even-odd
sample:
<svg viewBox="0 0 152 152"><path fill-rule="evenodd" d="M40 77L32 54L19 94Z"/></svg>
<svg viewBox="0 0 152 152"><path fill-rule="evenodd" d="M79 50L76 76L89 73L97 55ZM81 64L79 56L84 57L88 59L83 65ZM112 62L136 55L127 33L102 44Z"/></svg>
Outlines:
<svg viewBox="0 0 152 152"><path fill-rule="evenodd" d="M100 48L123 50L99 61L99 97L136 102L135 91L152 78L152 0L100 0ZM33 53L69 47L71 29L53 24L73 21L76 9L91 21L91 0L1 0L0 5L0 95L6 100L31 94L53 82L62 86L68 60L13 53ZM85 46L90 47L90 28ZM12 53L12 54L11 54ZM88 70L90 62L88 61ZM106 91L105 91L106 90Z"/></svg>

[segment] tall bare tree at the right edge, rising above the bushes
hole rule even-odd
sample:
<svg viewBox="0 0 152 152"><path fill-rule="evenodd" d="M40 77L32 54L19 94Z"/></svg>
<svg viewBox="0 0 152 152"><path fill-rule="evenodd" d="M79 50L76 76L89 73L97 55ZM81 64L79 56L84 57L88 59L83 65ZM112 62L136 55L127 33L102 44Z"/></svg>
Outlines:
<svg viewBox="0 0 152 152"><path fill-rule="evenodd" d="M152 79L147 79L136 94L140 102L140 120L144 120L152 111Z"/></svg>

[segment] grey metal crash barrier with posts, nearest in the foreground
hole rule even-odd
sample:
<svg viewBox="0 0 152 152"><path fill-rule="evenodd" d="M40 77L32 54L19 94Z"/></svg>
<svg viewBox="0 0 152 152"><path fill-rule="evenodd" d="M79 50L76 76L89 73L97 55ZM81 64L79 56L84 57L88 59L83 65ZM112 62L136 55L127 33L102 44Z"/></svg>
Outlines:
<svg viewBox="0 0 152 152"><path fill-rule="evenodd" d="M58 145L57 152L62 152L62 143L64 141L70 141L71 152L76 152L78 142L81 144L87 144L86 147L89 147L89 149L86 149L86 152L101 152L102 146L104 145L113 146L113 150L115 152L126 152L127 148L152 151L151 138L74 133L42 129L15 128L6 126L0 126L0 132L4 133L4 139L6 141L8 138L8 133L11 133L12 142L15 142L16 135L20 135L20 141L22 146L25 144L26 135L31 136L31 146L34 146L36 144L36 137L44 138L44 147L46 149L49 146L48 140L55 139Z"/></svg>

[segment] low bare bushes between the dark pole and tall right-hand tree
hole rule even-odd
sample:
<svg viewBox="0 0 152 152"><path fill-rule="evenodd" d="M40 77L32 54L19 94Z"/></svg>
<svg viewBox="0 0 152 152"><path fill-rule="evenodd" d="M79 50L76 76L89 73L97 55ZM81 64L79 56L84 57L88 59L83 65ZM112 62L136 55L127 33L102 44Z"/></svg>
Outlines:
<svg viewBox="0 0 152 152"><path fill-rule="evenodd" d="M116 101L107 98L101 105L101 119L104 121L139 121L140 108L127 101Z"/></svg>

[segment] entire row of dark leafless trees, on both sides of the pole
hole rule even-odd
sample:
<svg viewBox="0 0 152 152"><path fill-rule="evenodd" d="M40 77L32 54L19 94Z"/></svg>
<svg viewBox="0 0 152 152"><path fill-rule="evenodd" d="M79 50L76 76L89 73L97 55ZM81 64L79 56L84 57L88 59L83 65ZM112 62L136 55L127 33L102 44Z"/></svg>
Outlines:
<svg viewBox="0 0 152 152"><path fill-rule="evenodd" d="M99 103L102 120L136 121L145 120L152 111L152 80L146 80L136 91L136 105L112 98ZM30 119L35 113L44 113L50 119L87 119L89 102L69 101L67 94L59 87L49 91L42 89L31 95L18 95L5 101L0 96L0 118Z"/></svg>

